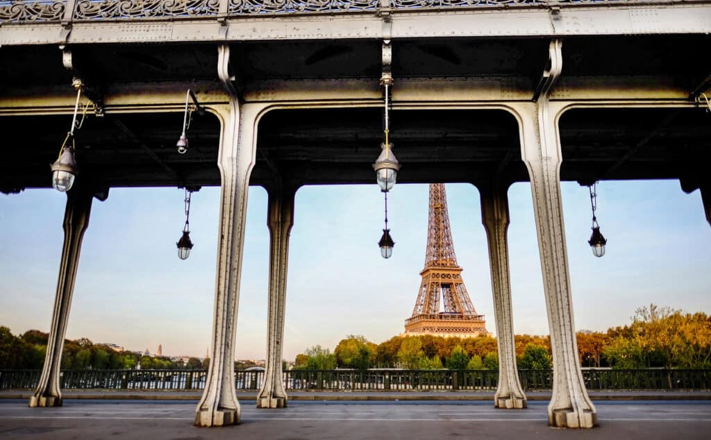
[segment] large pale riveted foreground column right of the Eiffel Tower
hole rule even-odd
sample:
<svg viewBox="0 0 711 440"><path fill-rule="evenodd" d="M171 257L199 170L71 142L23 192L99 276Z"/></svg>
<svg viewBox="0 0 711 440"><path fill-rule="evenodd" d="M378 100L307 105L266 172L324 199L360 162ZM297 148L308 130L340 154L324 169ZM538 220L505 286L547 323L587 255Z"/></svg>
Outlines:
<svg viewBox="0 0 711 440"><path fill-rule="evenodd" d="M562 66L560 41L552 41L550 68L538 102L520 114L521 156L528 168L533 193L538 247L553 352L553 390L548 423L568 428L592 428L597 411L590 401L580 371L573 320L570 271L560 197L560 136L557 112L548 96ZM547 78L547 79L546 79ZM523 108L523 107L522 107Z"/></svg>

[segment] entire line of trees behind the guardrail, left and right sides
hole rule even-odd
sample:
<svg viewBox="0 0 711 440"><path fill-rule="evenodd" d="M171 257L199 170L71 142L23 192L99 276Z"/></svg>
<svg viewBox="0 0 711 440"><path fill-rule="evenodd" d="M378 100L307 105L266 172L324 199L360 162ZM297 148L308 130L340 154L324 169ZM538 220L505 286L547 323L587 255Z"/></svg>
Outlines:
<svg viewBox="0 0 711 440"><path fill-rule="evenodd" d="M606 332L580 331L577 347L583 367L613 368L711 368L711 316L685 313L651 304L638 308L626 326ZM44 363L48 334L37 330L14 336L0 326L0 369L39 369ZM517 365L521 369L551 367L548 336L515 336ZM210 359L190 358L186 365L165 357L136 352L117 352L108 345L87 338L65 340L62 369L205 369ZM235 362L241 370L254 364ZM417 370L496 370L496 338L442 338L438 336L395 336L375 344L360 335L348 335L331 353L315 345L296 356L294 368L407 368Z"/></svg>

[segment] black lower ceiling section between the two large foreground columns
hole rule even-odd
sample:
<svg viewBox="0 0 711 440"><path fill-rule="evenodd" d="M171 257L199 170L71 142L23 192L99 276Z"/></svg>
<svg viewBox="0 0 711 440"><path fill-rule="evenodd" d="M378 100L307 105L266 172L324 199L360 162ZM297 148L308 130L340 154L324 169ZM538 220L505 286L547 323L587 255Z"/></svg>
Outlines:
<svg viewBox="0 0 711 440"><path fill-rule="evenodd" d="M402 163L401 182L474 181L504 164L508 178L525 179L515 119L500 110L395 110L390 140ZM383 142L382 109L288 110L260 124L257 156L284 176L311 183L370 183Z"/></svg>

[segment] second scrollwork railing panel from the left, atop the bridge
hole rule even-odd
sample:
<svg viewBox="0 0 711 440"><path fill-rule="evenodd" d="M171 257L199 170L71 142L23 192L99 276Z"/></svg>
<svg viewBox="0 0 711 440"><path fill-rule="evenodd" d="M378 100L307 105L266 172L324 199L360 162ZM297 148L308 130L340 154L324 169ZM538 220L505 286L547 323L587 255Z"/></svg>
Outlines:
<svg viewBox="0 0 711 440"><path fill-rule="evenodd" d="M79 20L214 16L220 0L79 0Z"/></svg>

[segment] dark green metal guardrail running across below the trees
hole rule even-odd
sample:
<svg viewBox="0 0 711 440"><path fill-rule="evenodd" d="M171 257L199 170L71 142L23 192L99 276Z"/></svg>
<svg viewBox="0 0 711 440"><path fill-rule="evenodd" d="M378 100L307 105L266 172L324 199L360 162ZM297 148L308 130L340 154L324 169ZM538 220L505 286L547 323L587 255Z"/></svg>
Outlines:
<svg viewBox="0 0 711 440"><path fill-rule="evenodd" d="M711 370L582 372L588 390L709 390ZM63 390L202 390L206 370L65 370ZM550 390L552 370L519 370L524 390ZM0 370L0 390L36 387L40 370ZM287 390L493 391L498 370L287 370ZM237 390L260 390L263 371L235 371Z"/></svg>

